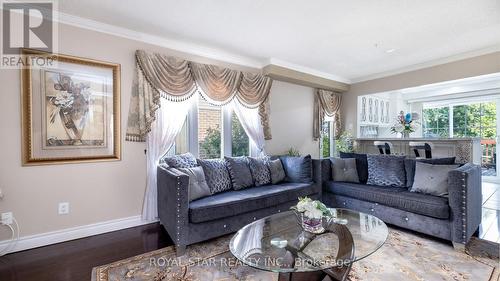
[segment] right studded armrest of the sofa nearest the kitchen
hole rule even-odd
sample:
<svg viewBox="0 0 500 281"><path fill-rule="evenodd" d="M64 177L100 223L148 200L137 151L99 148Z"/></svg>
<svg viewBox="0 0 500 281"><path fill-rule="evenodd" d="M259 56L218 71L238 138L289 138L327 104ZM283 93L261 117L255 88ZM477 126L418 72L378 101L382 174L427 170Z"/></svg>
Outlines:
<svg viewBox="0 0 500 281"><path fill-rule="evenodd" d="M448 173L451 239L466 244L481 223L481 167L467 163Z"/></svg>

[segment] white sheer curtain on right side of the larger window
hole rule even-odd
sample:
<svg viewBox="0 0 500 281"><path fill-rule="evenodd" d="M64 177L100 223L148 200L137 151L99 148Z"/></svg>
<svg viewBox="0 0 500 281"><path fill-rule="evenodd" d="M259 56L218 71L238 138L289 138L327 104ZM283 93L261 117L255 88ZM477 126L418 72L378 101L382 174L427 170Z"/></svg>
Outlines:
<svg viewBox="0 0 500 281"><path fill-rule="evenodd" d="M264 128L260 122L259 108L247 108L243 106L238 99L233 99L231 105L245 133L247 133L250 140L252 140L255 147L257 147L257 154L264 155L266 141L264 139Z"/></svg>

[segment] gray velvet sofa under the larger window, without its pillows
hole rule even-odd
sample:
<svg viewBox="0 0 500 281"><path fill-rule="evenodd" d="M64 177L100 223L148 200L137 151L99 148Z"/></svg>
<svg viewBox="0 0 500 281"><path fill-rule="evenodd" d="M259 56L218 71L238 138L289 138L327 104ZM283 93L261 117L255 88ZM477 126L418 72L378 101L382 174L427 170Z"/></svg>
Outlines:
<svg viewBox="0 0 500 281"><path fill-rule="evenodd" d="M188 202L189 177L176 169L158 166L160 223L178 253L182 253L187 245L235 232L256 219L286 211L297 204L298 197L321 198L321 161L312 160L312 166L312 182L230 190L192 202Z"/></svg>

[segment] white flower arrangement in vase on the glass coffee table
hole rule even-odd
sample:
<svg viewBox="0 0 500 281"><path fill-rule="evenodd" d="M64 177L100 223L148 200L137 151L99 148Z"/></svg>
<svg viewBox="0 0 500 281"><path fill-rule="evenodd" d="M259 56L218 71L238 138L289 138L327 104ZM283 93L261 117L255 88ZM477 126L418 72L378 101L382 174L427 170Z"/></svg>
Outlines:
<svg viewBox="0 0 500 281"><path fill-rule="evenodd" d="M295 211L302 228L311 233L323 233L325 231L323 217L331 216L331 212L325 204L309 197L299 198L297 205L290 209Z"/></svg>

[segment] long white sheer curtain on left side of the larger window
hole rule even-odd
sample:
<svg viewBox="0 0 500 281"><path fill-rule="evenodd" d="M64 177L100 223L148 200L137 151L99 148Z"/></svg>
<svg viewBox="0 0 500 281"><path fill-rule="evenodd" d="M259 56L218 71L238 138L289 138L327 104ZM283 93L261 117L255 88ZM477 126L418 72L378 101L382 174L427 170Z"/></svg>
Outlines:
<svg viewBox="0 0 500 281"><path fill-rule="evenodd" d="M143 220L158 218L156 169L160 158L174 144L175 136L182 129L193 98L182 102L172 102L161 99L161 106L156 111L156 120L151 124L151 132L146 139L147 183Z"/></svg>

